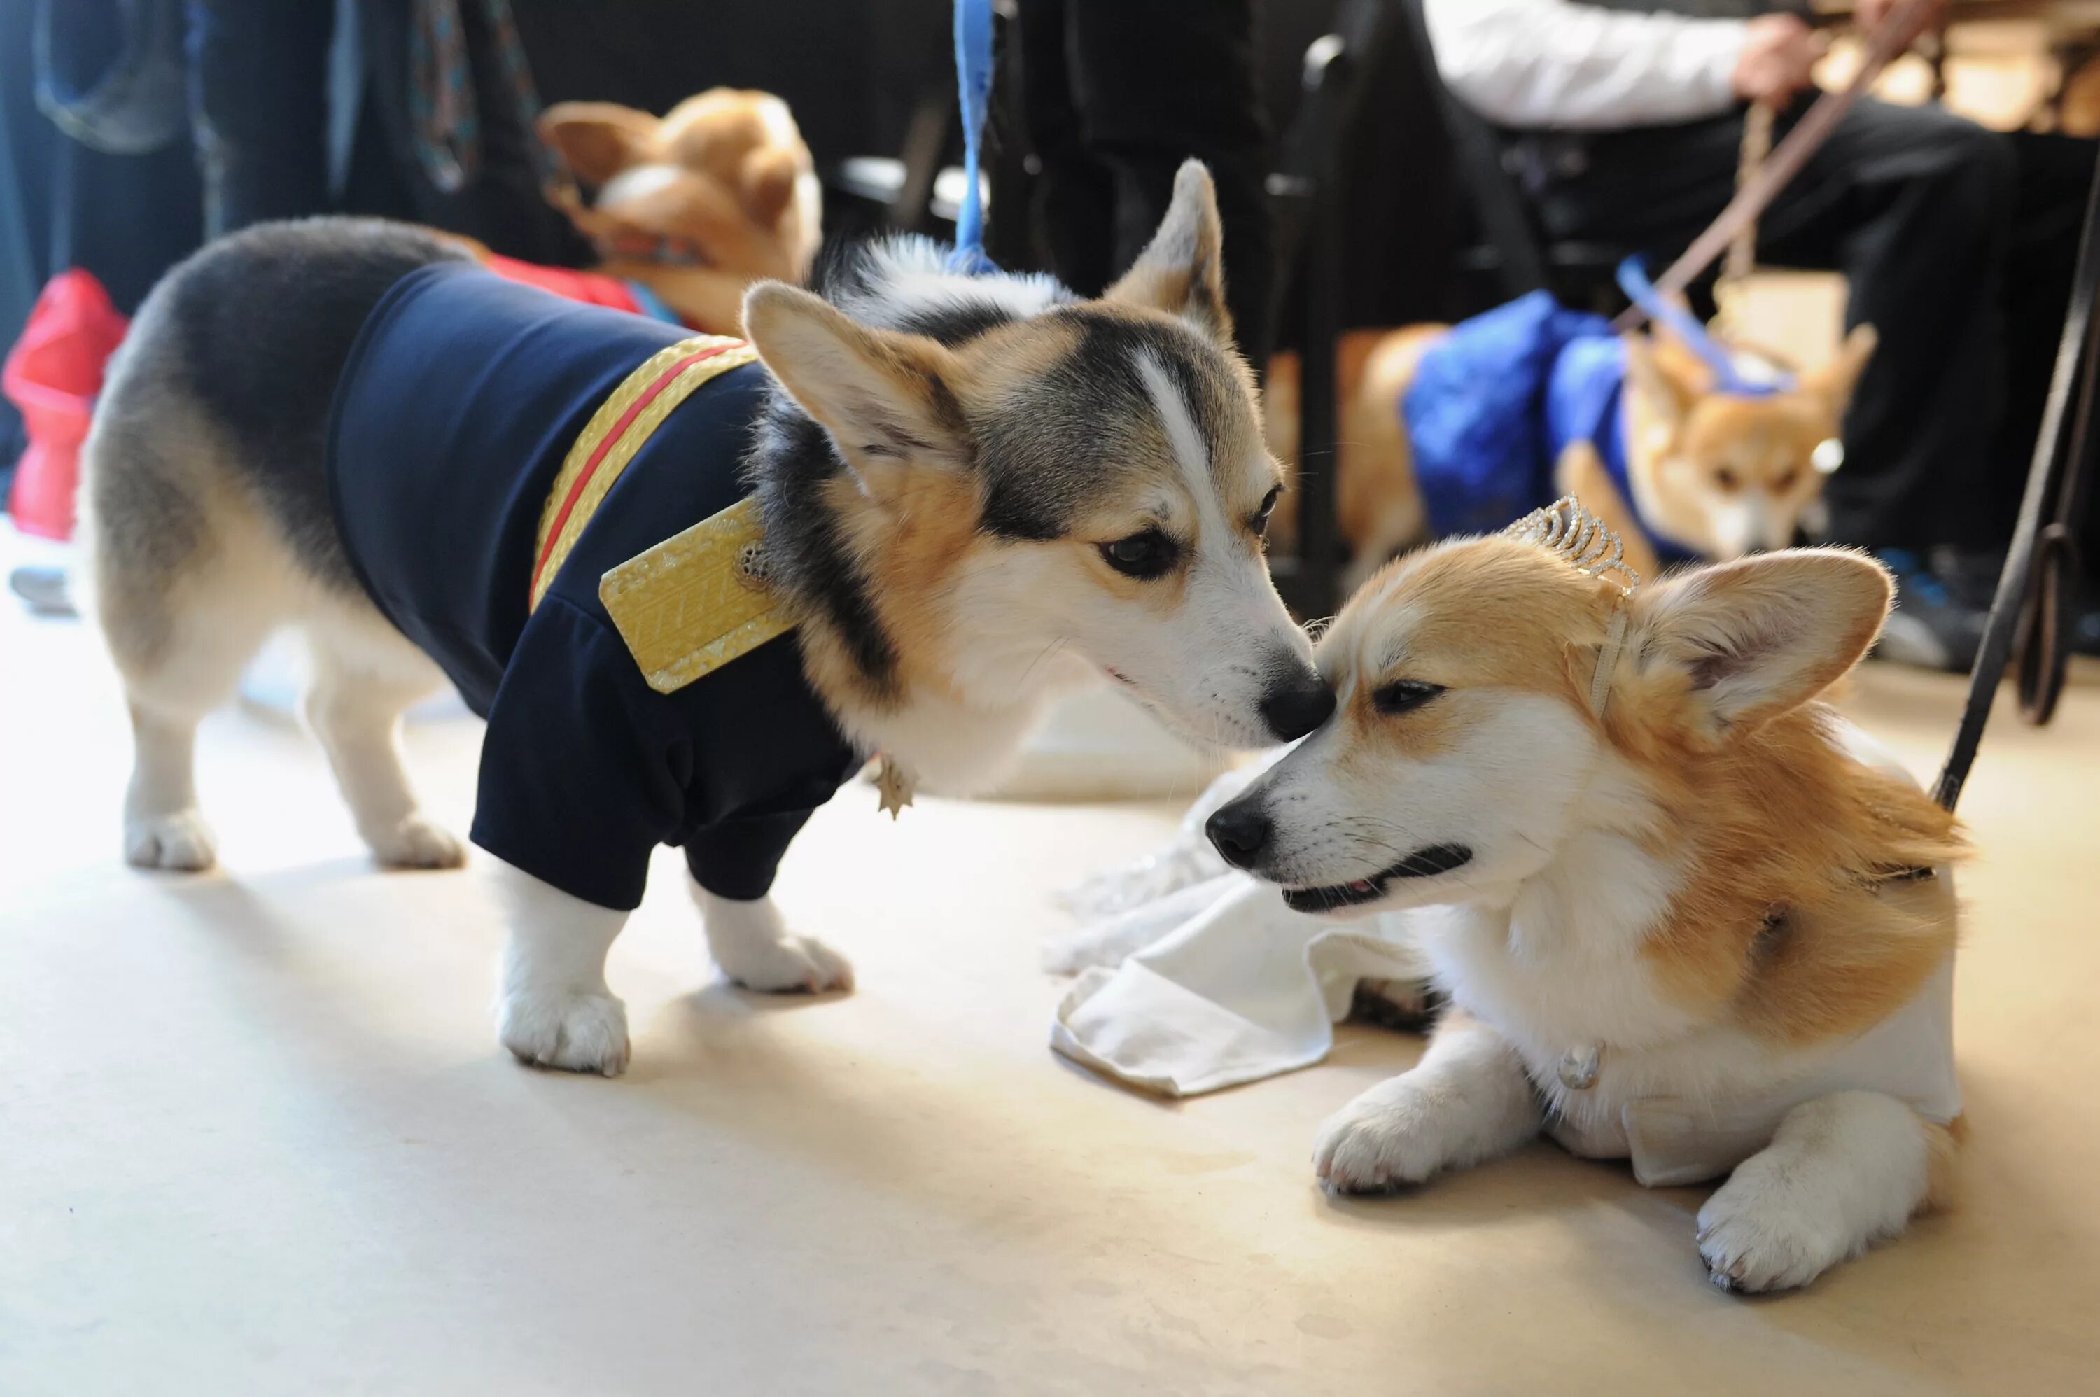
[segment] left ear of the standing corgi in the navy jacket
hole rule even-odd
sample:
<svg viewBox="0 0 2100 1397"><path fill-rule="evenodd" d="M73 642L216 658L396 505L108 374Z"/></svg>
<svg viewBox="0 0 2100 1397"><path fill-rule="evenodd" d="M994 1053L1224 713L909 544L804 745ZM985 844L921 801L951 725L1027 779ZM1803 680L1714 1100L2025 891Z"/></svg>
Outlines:
<svg viewBox="0 0 2100 1397"><path fill-rule="evenodd" d="M911 468L968 464L956 399L966 368L937 340L863 326L785 282L743 296L743 332L869 496L886 498Z"/></svg>

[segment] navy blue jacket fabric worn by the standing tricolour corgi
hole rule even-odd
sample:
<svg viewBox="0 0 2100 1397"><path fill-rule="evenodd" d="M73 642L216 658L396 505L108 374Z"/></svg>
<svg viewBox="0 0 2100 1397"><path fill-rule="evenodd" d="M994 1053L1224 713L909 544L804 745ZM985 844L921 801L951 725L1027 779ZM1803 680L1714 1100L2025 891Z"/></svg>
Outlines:
<svg viewBox="0 0 2100 1397"><path fill-rule="evenodd" d="M424 267L365 319L328 429L357 576L489 723L472 840L615 910L640 901L657 845L682 847L710 893L762 897L863 760L808 687L794 632L659 693L598 599L607 569L746 496L766 397L756 363L672 408L531 605L563 460L680 338L472 267Z"/></svg>

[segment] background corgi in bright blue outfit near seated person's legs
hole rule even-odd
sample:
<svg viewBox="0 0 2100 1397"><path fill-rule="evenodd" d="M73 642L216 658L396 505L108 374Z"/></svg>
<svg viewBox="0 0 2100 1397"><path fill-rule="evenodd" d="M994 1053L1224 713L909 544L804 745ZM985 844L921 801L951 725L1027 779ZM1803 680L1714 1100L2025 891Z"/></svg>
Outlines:
<svg viewBox="0 0 2100 1397"><path fill-rule="evenodd" d="M1829 363L1785 391L1760 395L1718 387L1714 368L1663 326L1615 338L1600 330L1539 292L1462 326L1342 338L1336 504L1352 559L1346 586L1411 544L1491 527L1562 494L1619 534L1642 576L1665 561L1728 561L1793 542L1835 468L1840 424L1877 345L1873 326L1854 328ZM1560 336L1554 355L1537 351ZM1441 403L1426 458L1413 437L1424 424L1409 416L1420 416L1409 395L1424 366ZM1296 462L1296 355L1270 361L1266 412L1270 450ZM1520 433L1529 439L1518 447ZM1474 477L1483 460L1499 462L1487 473L1495 479ZM1292 504L1287 494L1285 531L1296 525Z"/></svg>

